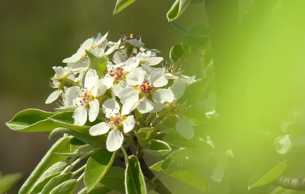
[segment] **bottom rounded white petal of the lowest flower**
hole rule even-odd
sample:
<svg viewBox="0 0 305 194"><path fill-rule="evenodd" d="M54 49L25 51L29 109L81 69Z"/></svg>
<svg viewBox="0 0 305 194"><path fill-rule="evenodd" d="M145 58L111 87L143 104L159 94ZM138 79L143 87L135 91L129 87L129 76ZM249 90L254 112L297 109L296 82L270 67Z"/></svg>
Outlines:
<svg viewBox="0 0 305 194"><path fill-rule="evenodd" d="M114 129L108 133L108 137L106 140L106 148L110 152L114 152L121 148L123 144L124 136L123 134L117 130Z"/></svg>

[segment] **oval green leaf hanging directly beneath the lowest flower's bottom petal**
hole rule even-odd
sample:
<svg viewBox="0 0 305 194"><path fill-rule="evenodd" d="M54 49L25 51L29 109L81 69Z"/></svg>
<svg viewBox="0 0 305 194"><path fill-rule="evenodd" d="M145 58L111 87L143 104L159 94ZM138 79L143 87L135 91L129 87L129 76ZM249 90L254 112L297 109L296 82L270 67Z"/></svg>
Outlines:
<svg viewBox="0 0 305 194"><path fill-rule="evenodd" d="M116 152L112 153L106 149L102 149L94 153L88 159L84 174L84 182L88 191L91 191L93 187L102 180L115 157Z"/></svg>

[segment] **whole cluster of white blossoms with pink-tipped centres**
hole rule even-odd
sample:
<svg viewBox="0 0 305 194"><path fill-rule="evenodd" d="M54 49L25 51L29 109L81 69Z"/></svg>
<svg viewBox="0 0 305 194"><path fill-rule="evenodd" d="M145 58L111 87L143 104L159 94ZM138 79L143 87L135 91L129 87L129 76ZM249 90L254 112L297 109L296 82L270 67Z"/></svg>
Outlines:
<svg viewBox="0 0 305 194"><path fill-rule="evenodd" d="M157 56L159 51L145 48L134 35L112 42L107 34L85 40L75 54L62 61L66 67L53 67L51 87L57 89L46 103L61 96L63 106L74 107L74 125L87 123L92 126L92 136L107 137L109 151L118 150L124 137L139 130L142 117L162 118L158 115L162 112L175 115L177 131L191 139L192 123L182 116L185 103L178 100L186 86L195 82L194 76L182 75L176 65L158 65L163 61ZM88 118L97 124L92 125ZM150 127L154 128L153 123Z"/></svg>

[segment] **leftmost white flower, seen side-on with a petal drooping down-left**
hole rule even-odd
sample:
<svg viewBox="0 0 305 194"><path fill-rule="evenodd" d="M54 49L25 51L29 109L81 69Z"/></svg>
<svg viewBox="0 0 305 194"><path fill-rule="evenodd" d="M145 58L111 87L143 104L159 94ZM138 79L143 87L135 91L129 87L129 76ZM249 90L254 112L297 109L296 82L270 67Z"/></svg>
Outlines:
<svg viewBox="0 0 305 194"><path fill-rule="evenodd" d="M54 102L56 99L58 99L58 96L63 92L63 82L71 82L71 84L74 84L78 81L80 81L83 77L83 69L78 68L78 69L68 69L68 67L53 67L55 71L55 75L52 79L52 88L58 88L54 92L52 92L48 99L46 100L46 104L50 104ZM78 77L75 77L76 74L78 74Z"/></svg>

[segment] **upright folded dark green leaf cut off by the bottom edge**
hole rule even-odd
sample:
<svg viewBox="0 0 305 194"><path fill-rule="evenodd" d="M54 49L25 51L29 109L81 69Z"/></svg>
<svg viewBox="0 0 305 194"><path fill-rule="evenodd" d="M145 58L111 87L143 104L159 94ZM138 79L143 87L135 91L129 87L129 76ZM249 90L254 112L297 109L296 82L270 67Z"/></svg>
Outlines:
<svg viewBox="0 0 305 194"><path fill-rule="evenodd" d="M125 190L127 194L147 193L140 163L135 155L128 157L125 171Z"/></svg>

